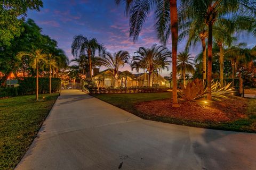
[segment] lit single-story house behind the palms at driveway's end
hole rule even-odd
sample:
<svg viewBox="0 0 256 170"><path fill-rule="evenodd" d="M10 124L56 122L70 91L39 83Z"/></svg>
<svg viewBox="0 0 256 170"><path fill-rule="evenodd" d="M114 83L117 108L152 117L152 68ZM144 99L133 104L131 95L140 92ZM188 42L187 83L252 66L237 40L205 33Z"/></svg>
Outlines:
<svg viewBox="0 0 256 170"><path fill-rule="evenodd" d="M148 73L132 74L129 71L119 71L118 87L148 87ZM113 71L107 69L99 72L99 69L93 69L92 80L97 87L114 87L115 78ZM158 74L152 75L153 86L166 87L166 80ZM169 85L170 86L170 85Z"/></svg>

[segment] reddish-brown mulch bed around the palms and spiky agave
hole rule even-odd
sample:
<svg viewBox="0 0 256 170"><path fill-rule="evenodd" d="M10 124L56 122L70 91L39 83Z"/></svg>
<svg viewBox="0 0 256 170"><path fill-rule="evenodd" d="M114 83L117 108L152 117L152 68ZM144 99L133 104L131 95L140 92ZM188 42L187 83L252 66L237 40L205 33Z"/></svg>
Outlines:
<svg viewBox="0 0 256 170"><path fill-rule="evenodd" d="M172 101L154 100L139 103L136 108L143 114L171 117L197 122L230 122L246 118L247 99L231 97L222 101L213 101L207 105L194 102L180 103L179 108L172 107Z"/></svg>

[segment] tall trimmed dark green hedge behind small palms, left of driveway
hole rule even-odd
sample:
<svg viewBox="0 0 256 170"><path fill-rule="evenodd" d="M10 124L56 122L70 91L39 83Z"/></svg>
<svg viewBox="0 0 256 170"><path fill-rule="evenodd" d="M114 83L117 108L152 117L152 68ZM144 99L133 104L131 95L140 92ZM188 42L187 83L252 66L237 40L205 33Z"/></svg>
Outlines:
<svg viewBox="0 0 256 170"><path fill-rule="evenodd" d="M19 80L18 94L31 95L36 93L36 78L24 78ZM60 78L51 78L51 91L56 92L60 90ZM45 94L49 92L49 78L39 78L38 93Z"/></svg>

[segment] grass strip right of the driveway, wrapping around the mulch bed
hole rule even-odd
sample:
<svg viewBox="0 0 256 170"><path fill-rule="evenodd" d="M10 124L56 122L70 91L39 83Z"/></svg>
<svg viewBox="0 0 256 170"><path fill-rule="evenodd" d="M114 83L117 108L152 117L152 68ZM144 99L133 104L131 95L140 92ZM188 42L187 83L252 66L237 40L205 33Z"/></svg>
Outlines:
<svg viewBox="0 0 256 170"><path fill-rule="evenodd" d="M136 104L143 101L162 100L171 97L170 92L148 93L148 94L93 94L109 104L117 106L139 117L165 123L173 123L179 125L194 126L198 128L210 128L228 131L256 132L256 99L247 99L246 115L247 118L240 118L232 122L198 122L191 120L183 120L179 118L154 116L143 114L135 107Z"/></svg>

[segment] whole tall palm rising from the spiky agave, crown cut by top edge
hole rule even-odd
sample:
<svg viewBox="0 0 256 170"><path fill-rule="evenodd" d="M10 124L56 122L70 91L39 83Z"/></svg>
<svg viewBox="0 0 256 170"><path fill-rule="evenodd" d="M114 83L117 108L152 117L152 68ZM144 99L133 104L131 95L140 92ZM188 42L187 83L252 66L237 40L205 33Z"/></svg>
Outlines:
<svg viewBox="0 0 256 170"><path fill-rule="evenodd" d="M187 16L189 20L204 18L208 27L207 99L211 100L213 25L222 16L229 18L238 14L255 16L256 2L254 0L182 0L181 2L182 10L190 14Z"/></svg>

